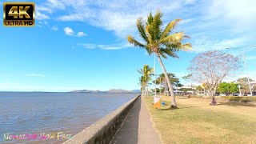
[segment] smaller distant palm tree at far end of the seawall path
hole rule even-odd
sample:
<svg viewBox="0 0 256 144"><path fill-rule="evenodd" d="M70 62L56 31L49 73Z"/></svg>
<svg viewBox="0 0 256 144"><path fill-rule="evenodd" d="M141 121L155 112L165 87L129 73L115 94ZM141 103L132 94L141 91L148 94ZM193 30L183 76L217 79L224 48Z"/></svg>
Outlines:
<svg viewBox="0 0 256 144"><path fill-rule="evenodd" d="M153 72L154 69L148 65L144 65L143 69L138 70L138 73L142 74L142 76L145 78L146 96L148 96L148 82L150 82L151 76L154 75L152 74Z"/></svg>

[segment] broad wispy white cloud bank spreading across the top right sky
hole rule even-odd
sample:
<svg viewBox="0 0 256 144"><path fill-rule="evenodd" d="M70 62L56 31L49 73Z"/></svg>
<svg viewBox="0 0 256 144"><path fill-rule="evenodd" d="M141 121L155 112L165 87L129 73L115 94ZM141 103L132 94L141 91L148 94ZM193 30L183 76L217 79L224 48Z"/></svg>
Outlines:
<svg viewBox="0 0 256 144"><path fill-rule="evenodd" d="M200 52L220 49L221 46L245 46L254 41L255 5L255 0L48 0L39 10L47 12L49 9L48 13L66 10L58 20L86 22L113 31L126 42L128 34L138 38L135 26L138 17L146 18L150 11L154 14L160 9L164 13L165 24L174 18L184 19L177 30L189 34L192 38L188 42L191 41L195 52Z"/></svg>

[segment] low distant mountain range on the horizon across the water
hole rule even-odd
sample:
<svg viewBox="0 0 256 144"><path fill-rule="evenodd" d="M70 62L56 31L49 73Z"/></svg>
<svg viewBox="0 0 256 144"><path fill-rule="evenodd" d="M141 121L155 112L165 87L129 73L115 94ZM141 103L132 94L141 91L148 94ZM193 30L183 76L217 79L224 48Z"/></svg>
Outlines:
<svg viewBox="0 0 256 144"><path fill-rule="evenodd" d="M122 90L122 89L112 89L112 90L106 90L106 91L101 91L101 90L72 90L70 91L72 93L140 93L141 90Z"/></svg>

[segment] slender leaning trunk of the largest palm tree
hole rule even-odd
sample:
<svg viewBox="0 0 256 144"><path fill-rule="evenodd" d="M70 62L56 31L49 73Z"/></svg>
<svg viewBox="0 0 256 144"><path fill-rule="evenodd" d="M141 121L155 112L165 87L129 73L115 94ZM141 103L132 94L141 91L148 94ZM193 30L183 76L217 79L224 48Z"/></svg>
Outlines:
<svg viewBox="0 0 256 144"><path fill-rule="evenodd" d="M168 87L169 87L169 93L170 93L170 98L171 98L171 107L172 108L177 108L177 103L176 103L175 96L174 96L174 89L170 84L170 78L168 77L168 74L166 72L166 68L165 68L165 66L163 66L162 59L160 58L160 55L158 53L157 53L157 57L158 57L158 61L160 63L160 66L162 68L163 74L165 74L165 76L166 76L166 81L167 81L167 84L168 84Z"/></svg>

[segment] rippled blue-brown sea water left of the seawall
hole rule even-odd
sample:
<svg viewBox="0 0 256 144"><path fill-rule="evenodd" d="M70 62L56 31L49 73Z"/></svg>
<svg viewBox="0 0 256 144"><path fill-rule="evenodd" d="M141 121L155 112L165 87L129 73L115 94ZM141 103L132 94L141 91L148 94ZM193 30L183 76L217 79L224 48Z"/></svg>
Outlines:
<svg viewBox="0 0 256 144"><path fill-rule="evenodd" d="M63 132L65 134L77 134L136 95L0 93L0 143L3 142L3 134L6 133L41 134L43 132ZM63 141L53 142L61 143ZM32 141L32 143L38 142Z"/></svg>

